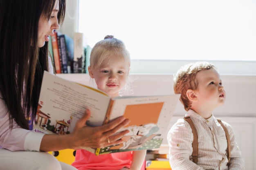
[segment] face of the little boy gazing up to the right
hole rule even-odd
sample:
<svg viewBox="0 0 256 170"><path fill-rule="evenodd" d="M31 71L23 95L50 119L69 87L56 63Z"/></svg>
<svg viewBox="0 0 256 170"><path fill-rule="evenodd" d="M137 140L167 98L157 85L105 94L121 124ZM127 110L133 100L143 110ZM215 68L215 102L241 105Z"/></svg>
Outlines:
<svg viewBox="0 0 256 170"><path fill-rule="evenodd" d="M198 106L212 111L224 104L226 92L216 69L202 70L197 73L195 78L198 81L198 88L195 90Z"/></svg>

